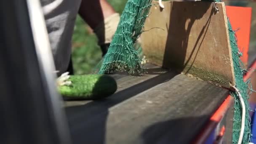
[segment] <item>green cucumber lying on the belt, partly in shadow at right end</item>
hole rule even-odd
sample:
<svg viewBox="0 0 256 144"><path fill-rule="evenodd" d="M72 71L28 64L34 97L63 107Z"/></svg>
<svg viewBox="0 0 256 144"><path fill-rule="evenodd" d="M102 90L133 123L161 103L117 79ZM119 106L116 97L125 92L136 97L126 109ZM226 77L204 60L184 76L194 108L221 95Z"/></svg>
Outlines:
<svg viewBox="0 0 256 144"><path fill-rule="evenodd" d="M102 99L117 90L117 83L108 75L70 75L71 85L58 86L59 93L67 99Z"/></svg>

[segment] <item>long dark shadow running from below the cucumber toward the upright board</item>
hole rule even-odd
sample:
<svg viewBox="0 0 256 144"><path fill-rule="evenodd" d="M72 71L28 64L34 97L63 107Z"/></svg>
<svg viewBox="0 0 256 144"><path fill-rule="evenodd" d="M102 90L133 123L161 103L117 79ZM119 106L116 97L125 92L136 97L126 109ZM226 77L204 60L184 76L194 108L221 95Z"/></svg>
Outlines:
<svg viewBox="0 0 256 144"><path fill-rule="evenodd" d="M150 74L160 72L159 69L148 69ZM156 70L156 71L155 71ZM162 69L163 72L163 69ZM137 94L148 90L160 83L164 83L175 77L174 72L165 72L149 80L143 81L131 87L125 88L111 97L91 101L84 105L66 107L69 127L74 144L104 144L106 135L106 121L109 108L130 99ZM117 81L118 83L118 81ZM133 81L136 83L136 80Z"/></svg>

